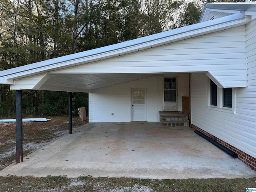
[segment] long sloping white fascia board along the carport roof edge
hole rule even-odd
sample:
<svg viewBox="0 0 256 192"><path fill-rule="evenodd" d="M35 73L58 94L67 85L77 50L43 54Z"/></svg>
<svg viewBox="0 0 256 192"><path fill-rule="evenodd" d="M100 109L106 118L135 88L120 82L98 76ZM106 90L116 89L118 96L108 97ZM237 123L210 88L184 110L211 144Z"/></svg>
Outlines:
<svg viewBox="0 0 256 192"><path fill-rule="evenodd" d="M146 36L143 38L138 38L135 40L130 40L127 42L122 42L119 44L114 44L102 48L97 48L94 50L88 50L85 52L80 52L76 54L71 54L67 56L62 56L59 58L54 58L50 60L45 60L42 62L37 62L34 64L28 64L25 66L12 68L9 70L4 70L0 72L0 82L3 79L16 79L24 76L31 76L34 74L39 74L51 70L56 70L58 68L66 68L74 64L83 64L86 61L101 60L103 58L110 58L114 55L122 55L127 52L134 52L138 50L143 50L158 44L169 43L173 40L178 40L179 38L199 34L202 32L207 32L215 30L218 28L223 28L225 26L232 26L234 24L239 24L242 22L250 21L249 18L245 18L244 13L233 14L230 16L210 20L207 22L202 22L190 26L185 26L182 28ZM86 54L86 55L85 55Z"/></svg>

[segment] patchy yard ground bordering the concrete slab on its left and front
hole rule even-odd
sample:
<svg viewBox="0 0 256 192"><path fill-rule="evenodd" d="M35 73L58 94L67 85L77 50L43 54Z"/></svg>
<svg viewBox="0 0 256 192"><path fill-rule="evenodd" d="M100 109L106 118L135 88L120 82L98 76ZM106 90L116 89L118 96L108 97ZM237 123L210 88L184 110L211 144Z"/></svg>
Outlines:
<svg viewBox="0 0 256 192"><path fill-rule="evenodd" d="M73 119L73 127L85 123L78 118ZM24 156L67 133L68 117L53 117L48 122L23 123ZM15 123L2 123L0 124L0 170L14 160ZM91 176L78 178L0 176L0 192L244 192L246 188L256 188L256 178L151 180Z"/></svg>

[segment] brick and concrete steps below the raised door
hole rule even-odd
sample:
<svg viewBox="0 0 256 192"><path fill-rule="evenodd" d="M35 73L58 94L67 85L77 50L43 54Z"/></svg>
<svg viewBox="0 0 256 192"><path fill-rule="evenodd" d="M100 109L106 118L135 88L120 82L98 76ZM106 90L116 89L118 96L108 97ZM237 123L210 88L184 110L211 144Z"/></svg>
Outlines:
<svg viewBox="0 0 256 192"><path fill-rule="evenodd" d="M163 126L189 126L186 114L179 111L160 111L160 123Z"/></svg>

